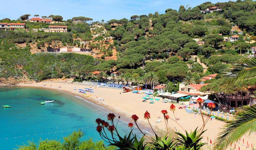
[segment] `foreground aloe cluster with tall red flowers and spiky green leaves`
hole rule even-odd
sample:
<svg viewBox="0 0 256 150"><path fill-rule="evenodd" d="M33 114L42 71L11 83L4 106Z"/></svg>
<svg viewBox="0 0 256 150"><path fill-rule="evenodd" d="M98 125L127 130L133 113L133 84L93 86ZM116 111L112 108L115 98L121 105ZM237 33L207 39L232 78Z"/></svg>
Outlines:
<svg viewBox="0 0 256 150"><path fill-rule="evenodd" d="M198 98L197 102L199 103L199 105L201 106L201 103L203 102L203 100L201 98ZM209 103L208 107L211 109L215 108L215 104L214 103ZM203 119L203 125L202 127L197 130L198 128L195 129L195 131L191 132L190 134L185 131L182 126L177 122L176 117L175 117L175 105L171 105L170 106L170 110L173 112L173 118L171 115L168 115L167 110L162 110L161 113L164 116L164 121L165 121L165 125L167 128L167 133L165 134L165 136L163 137L159 137L154 129L151 126L151 123L149 121L149 119L151 118L150 113L148 111L146 111L144 113L144 119L147 119L152 131L155 133L155 138L153 137L148 137L145 133L143 133L143 131L141 130L141 128L139 128L139 125L137 124L137 121L139 120L139 117L137 115L132 115L131 119L134 121L134 124L136 125L136 127L139 129L139 131L143 134L142 138L140 140L137 139L136 134L133 134L133 126L134 124L132 122L130 122L128 124L128 127L131 128L131 131L128 135L125 135L124 137L121 137L117 131L117 124L118 121L120 119L120 117L118 117L118 121L117 124L114 125L114 118L116 117L113 113L108 114L107 119L108 121L110 121L110 123L105 122L104 120L101 119L96 119L96 123L98 124L96 131L98 131L98 133L100 134L101 138L105 141L108 142L109 145L111 146L116 146L119 149L127 149L127 150L147 150L149 149L149 147L151 146L151 148L153 147L153 149L157 149L157 150L166 150L166 149L186 149L186 150L198 150L200 149L202 146L204 146L206 143L199 143L199 141L202 139L202 134L206 131L204 130L204 126L205 124L208 122L209 118L211 115L209 115L209 117L204 121L204 116L202 116ZM201 107L199 108L201 110ZM172 139L172 136L170 135L170 132L168 130L169 128L169 124L168 124L168 120L173 120L174 122L176 122L185 132L186 132L186 136L179 133L179 132L175 132L175 134L177 134L179 137L176 139ZM109 131L111 133L111 137L108 137L108 135L106 134L106 131ZM115 138L118 137L118 140ZM147 137L149 140L151 140L151 142L148 143L144 143L145 138Z"/></svg>

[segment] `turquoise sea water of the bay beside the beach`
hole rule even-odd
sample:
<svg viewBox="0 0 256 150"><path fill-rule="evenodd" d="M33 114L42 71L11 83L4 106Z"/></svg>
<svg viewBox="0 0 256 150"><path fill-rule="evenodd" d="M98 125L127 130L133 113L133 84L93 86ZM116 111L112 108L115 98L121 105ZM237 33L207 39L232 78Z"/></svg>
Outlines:
<svg viewBox="0 0 256 150"><path fill-rule="evenodd" d="M41 105L45 100L55 103ZM62 140L78 129L84 133L83 140L101 140L95 119L106 119L110 113L80 97L41 88L0 88L0 105L0 150L12 150L40 138ZM122 135L130 131L126 122L119 122L118 127Z"/></svg>

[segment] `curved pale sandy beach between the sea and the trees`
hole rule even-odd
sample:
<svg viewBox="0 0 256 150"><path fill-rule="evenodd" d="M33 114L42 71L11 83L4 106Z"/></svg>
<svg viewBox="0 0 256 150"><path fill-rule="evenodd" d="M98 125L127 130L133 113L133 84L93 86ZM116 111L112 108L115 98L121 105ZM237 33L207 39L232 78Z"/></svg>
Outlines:
<svg viewBox="0 0 256 150"><path fill-rule="evenodd" d="M46 86L42 86L42 85ZM50 87L50 85L52 85ZM139 124L148 126L147 120L143 118L145 111L147 110L150 115L150 123L160 129L165 129L165 122L162 119L161 122L156 123L155 121L158 120L158 117L162 117L161 110L167 110L169 113L168 115L175 119L173 113L170 111L171 103L162 103L162 98L160 101L155 101L155 104L149 104L148 102L142 102L142 97L145 97L145 94L136 94L132 92L122 93L122 89L112 89L112 88L103 88L103 87L95 87L89 85L82 85L82 84L71 84L71 83L64 83L64 82L39 82L39 83L32 83L32 84L20 84L19 86L27 86L27 87L38 87L38 88L51 88L55 90L61 90L68 92L73 95L78 95L86 100L92 101L93 103L106 108L107 110L113 111L116 116L126 116L126 119L129 119L130 122L133 122L130 119L130 116L136 114L139 117ZM59 88L61 86L61 88ZM90 97L86 97L87 95L82 95L78 93L76 89L84 89L84 88L92 88L94 93L88 93L87 95L91 95ZM121 94L120 94L121 92ZM96 101L96 98L102 98L104 101ZM196 127L201 128L202 126L202 118L199 115L195 115L194 113L188 114L186 113L185 109L178 109L180 104L174 104L176 106L175 116L180 120L178 123L187 131L195 130ZM217 114L217 112L215 112ZM207 117L204 117L205 119ZM222 121L211 121L209 120L205 126L207 131L203 134L204 139L202 142L206 142L210 146L210 140L212 140L214 144L214 139L217 137L217 134L221 131L220 128L225 125L225 122ZM181 133L185 133L176 122L169 120L169 126L174 128L174 130L179 131ZM209 140L207 141L207 137ZM244 139L244 144L242 142ZM241 138L240 143L236 143L236 149L240 147L241 150L246 149L246 145L250 145L248 149L251 149L251 144L254 148L256 148L256 133L252 133L250 136L246 135ZM234 145L233 145L234 147Z"/></svg>

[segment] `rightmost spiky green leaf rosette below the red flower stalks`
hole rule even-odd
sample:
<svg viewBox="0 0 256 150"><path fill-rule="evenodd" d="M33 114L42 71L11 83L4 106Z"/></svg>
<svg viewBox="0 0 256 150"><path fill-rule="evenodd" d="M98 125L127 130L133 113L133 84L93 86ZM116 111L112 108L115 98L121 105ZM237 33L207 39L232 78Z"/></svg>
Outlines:
<svg viewBox="0 0 256 150"><path fill-rule="evenodd" d="M207 143L200 143L200 140L203 138L202 134L206 130L204 130L202 132L199 132L199 134L198 134L197 128L193 132L190 132L190 134L186 131L186 136L179 133L179 132L175 132L178 136L180 136L176 139L176 140L178 140L177 144L178 145L184 145L186 148L194 149L194 150L198 150L202 146L207 144Z"/></svg>

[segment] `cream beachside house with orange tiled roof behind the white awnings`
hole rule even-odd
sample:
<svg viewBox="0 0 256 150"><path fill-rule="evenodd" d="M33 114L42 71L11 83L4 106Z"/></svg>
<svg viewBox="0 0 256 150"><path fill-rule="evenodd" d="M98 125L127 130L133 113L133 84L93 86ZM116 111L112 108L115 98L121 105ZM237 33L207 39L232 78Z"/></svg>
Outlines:
<svg viewBox="0 0 256 150"><path fill-rule="evenodd" d="M192 84L192 85L185 85L185 84L179 84L179 91L178 93L181 94L186 94L186 95L190 95L190 96L205 96L211 93L204 93L204 92L200 92L200 88L204 85L208 85L208 83L206 84Z"/></svg>

